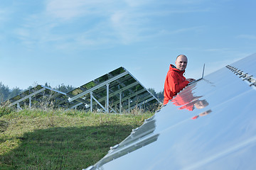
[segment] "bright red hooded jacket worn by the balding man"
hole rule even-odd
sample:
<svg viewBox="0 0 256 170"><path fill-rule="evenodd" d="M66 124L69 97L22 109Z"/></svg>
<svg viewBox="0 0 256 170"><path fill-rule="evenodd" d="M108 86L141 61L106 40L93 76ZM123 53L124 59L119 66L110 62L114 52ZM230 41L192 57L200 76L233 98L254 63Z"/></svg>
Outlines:
<svg viewBox="0 0 256 170"><path fill-rule="evenodd" d="M186 78L183 77L184 72L185 70L181 71L176 69L173 64L170 64L170 69L164 82L164 105L188 85L189 81L186 81Z"/></svg>

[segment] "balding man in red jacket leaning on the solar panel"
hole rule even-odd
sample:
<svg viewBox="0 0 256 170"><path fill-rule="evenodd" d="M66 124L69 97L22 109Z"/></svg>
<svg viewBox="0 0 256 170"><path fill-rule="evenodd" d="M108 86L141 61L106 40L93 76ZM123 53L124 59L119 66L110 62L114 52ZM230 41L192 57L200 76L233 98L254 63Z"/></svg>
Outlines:
<svg viewBox="0 0 256 170"><path fill-rule="evenodd" d="M178 55L175 61L176 67L170 64L170 69L167 72L164 82L164 105L171 100L179 91L187 86L195 79L186 79L183 74L188 64L188 58L186 55Z"/></svg>

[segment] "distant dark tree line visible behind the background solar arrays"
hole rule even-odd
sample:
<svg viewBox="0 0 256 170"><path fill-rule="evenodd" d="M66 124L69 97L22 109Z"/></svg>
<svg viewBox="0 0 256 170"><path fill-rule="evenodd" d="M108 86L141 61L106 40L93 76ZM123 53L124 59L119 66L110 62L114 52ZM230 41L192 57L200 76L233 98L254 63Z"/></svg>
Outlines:
<svg viewBox="0 0 256 170"><path fill-rule="evenodd" d="M68 93L69 91L72 91L73 89L75 89L74 86L70 86L70 85L66 86L65 84L60 84L53 88L47 82L44 86L48 86L51 89L55 89L63 93ZM14 96L17 96L18 94L21 94L21 92L23 91L26 91L32 88L33 86L29 86L27 89L19 89L18 87L10 89L9 86L6 86L2 82L0 82L0 103L8 100L9 98L13 98ZM153 88L149 88L148 90L150 91L151 94L153 94L156 98L158 98L159 101L164 101L164 90L158 93L156 93L156 91Z"/></svg>

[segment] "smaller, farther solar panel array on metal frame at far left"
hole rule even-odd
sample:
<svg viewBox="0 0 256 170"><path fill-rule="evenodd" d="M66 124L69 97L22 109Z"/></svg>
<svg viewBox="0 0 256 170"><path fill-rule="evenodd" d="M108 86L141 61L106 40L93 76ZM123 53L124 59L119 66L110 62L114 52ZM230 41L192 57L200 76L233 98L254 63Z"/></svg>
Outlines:
<svg viewBox="0 0 256 170"><path fill-rule="evenodd" d="M9 106L17 105L18 109L22 109L21 106L29 106L31 108L31 105L35 107L51 105L55 108L68 108L70 105L68 103L68 96L65 93L42 85L24 91L9 99L9 101L11 102Z"/></svg>

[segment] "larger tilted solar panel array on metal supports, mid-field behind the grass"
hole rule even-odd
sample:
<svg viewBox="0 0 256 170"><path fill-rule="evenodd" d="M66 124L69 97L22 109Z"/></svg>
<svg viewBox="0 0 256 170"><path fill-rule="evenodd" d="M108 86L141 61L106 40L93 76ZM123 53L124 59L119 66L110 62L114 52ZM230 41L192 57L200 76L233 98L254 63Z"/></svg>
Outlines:
<svg viewBox="0 0 256 170"><path fill-rule="evenodd" d="M158 99L147 91L124 67L84 84L67 94L75 101L70 108L121 113L139 107L154 108Z"/></svg>

